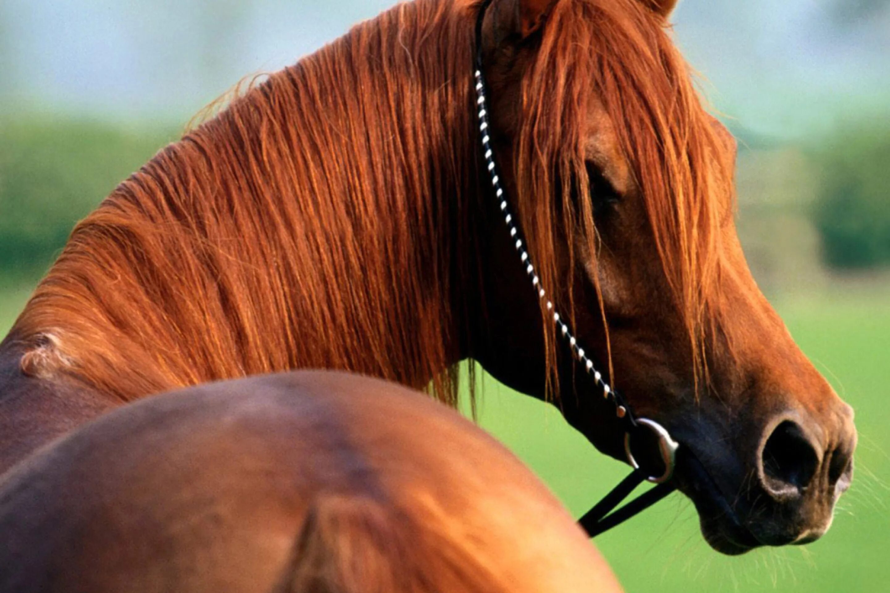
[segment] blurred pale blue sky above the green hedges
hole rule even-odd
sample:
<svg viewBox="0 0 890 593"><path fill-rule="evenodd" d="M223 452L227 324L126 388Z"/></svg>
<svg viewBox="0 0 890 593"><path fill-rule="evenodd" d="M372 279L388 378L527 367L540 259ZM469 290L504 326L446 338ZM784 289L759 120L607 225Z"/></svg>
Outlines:
<svg viewBox="0 0 890 593"><path fill-rule="evenodd" d="M0 111L182 123L388 0L0 0ZM890 0L683 0L676 38L721 112L800 136L886 116Z"/></svg>

